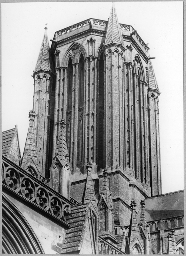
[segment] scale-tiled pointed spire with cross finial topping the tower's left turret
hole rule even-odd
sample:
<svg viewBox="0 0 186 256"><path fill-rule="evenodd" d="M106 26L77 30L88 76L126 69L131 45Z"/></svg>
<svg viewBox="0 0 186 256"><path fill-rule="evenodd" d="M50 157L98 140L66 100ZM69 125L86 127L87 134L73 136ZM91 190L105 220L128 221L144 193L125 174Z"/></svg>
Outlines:
<svg viewBox="0 0 186 256"><path fill-rule="evenodd" d="M48 71L48 72L54 73L52 57L51 57L46 30L47 28L45 27L45 33L44 33L43 41L41 44L41 48L40 48L40 52L39 52L39 56L38 56L38 60L37 60L34 72Z"/></svg>

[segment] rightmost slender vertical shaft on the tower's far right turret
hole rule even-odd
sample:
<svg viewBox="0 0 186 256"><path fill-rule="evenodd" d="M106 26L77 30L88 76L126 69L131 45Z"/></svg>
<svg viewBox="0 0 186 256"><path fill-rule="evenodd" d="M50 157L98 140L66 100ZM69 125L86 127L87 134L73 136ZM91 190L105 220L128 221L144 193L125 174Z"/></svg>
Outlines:
<svg viewBox="0 0 186 256"><path fill-rule="evenodd" d="M155 119L156 119L156 150L157 150L157 171L158 171L158 195L161 194L160 159L159 159L159 129L158 129L157 98L155 98Z"/></svg>

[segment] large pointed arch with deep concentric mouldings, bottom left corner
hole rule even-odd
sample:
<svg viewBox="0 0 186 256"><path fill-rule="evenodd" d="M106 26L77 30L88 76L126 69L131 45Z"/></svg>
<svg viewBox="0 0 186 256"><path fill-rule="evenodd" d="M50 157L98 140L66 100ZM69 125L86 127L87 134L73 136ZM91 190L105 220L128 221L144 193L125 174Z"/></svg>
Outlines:
<svg viewBox="0 0 186 256"><path fill-rule="evenodd" d="M2 195L2 253L45 254L26 218L4 194Z"/></svg>

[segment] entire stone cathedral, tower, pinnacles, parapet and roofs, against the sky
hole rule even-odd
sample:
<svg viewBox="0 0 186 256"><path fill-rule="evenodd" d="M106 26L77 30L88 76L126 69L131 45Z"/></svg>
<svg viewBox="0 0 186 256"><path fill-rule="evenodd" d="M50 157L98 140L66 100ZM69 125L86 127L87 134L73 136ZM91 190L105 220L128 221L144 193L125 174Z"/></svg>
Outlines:
<svg viewBox="0 0 186 256"><path fill-rule="evenodd" d="M3 253L184 254L183 191L161 195L160 95L132 26L47 28L21 159L2 133Z"/></svg>

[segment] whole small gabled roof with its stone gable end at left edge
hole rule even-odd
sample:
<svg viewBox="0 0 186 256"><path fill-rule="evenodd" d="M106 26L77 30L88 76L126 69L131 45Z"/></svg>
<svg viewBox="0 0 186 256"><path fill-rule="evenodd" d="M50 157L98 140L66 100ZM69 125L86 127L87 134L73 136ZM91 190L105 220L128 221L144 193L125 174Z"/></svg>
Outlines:
<svg viewBox="0 0 186 256"><path fill-rule="evenodd" d="M2 132L2 155L19 165L21 154L17 125L13 129Z"/></svg>

